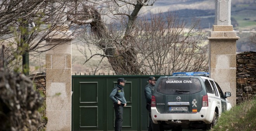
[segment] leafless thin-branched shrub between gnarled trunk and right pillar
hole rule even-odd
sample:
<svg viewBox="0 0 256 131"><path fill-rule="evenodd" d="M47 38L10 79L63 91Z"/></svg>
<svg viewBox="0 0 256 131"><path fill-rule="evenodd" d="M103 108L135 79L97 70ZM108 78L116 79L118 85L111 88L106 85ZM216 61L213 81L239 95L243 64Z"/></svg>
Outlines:
<svg viewBox="0 0 256 131"><path fill-rule="evenodd" d="M137 23L134 36L137 62L146 74L172 74L208 70L208 44L199 20L187 26L176 13L159 13Z"/></svg>

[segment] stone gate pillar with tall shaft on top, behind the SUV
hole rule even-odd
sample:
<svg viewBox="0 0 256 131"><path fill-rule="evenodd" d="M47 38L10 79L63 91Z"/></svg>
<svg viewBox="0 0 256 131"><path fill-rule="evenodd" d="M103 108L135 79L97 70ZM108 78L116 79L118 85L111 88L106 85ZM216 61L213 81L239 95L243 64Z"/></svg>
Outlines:
<svg viewBox="0 0 256 131"><path fill-rule="evenodd" d="M230 20L231 0L215 0L215 22L209 39L209 72L223 93L229 91L228 100L236 105L236 41L237 32Z"/></svg>

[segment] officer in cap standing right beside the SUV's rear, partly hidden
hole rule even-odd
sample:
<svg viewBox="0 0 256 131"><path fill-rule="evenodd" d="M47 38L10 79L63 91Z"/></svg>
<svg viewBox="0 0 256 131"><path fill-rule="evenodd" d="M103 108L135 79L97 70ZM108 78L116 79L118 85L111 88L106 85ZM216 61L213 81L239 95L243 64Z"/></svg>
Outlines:
<svg viewBox="0 0 256 131"><path fill-rule="evenodd" d="M147 111L149 113L149 118L150 118L148 131L152 131L152 126L153 126L153 121L152 121L152 118L151 118L151 98L152 98L152 92L154 90L155 84L156 84L156 78L150 76L149 77L149 84L147 84L147 86L145 87L145 91L144 91L145 99L146 99L146 102L147 102L146 108L147 108Z"/></svg>

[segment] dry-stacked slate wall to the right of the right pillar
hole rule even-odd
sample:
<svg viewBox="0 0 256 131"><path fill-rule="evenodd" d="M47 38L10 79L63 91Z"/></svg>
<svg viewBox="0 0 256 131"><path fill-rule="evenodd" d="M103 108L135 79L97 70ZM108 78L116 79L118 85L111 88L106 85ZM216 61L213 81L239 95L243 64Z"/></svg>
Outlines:
<svg viewBox="0 0 256 131"><path fill-rule="evenodd" d="M256 95L256 52L237 54L237 104Z"/></svg>

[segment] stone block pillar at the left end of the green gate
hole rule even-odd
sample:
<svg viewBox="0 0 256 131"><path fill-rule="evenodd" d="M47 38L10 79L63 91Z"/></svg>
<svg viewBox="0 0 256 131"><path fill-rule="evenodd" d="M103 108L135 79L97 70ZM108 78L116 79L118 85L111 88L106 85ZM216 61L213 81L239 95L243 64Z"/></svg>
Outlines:
<svg viewBox="0 0 256 131"><path fill-rule="evenodd" d="M57 46L46 52L47 131L71 131L71 31L50 35L47 48Z"/></svg>

